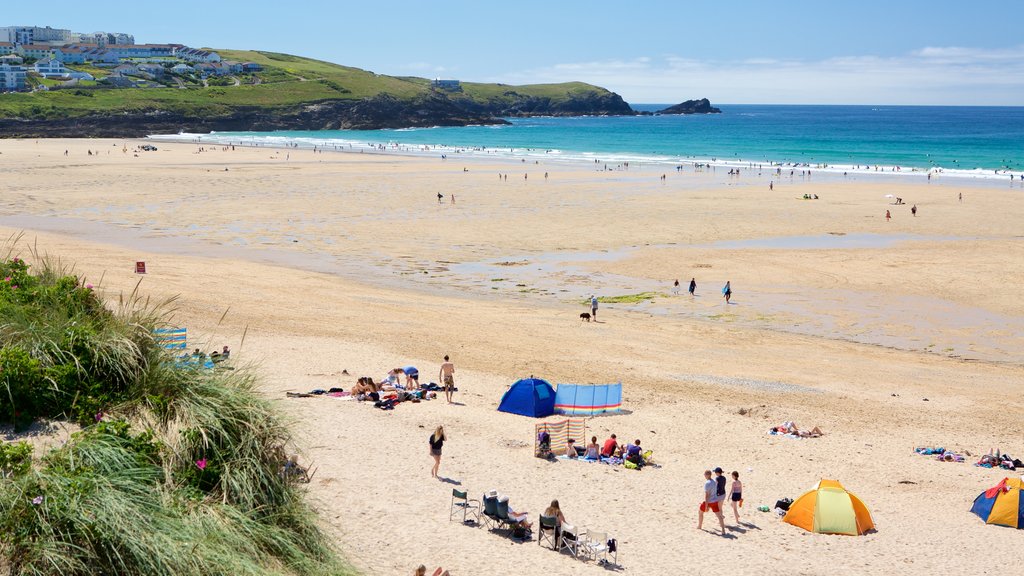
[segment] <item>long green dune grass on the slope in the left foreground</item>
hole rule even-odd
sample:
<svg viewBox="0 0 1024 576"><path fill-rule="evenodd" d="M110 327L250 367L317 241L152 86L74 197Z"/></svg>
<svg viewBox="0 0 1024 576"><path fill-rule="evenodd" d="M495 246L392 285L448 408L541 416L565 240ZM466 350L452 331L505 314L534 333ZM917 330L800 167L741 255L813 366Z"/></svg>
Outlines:
<svg viewBox="0 0 1024 576"><path fill-rule="evenodd" d="M282 474L288 425L256 392L253 371L175 364L153 337L168 302L137 290L103 302L77 278L70 291L51 291L74 278L68 270L47 259L20 265L18 281L34 280L37 295L20 302L18 318L4 317L0 356L38 371L5 371L0 397L9 405L13 389L29 386L62 398L47 390L63 382L38 374L73 359L88 366L102 404L83 431L33 460L26 444L0 445L0 568L12 576L351 573ZM7 292L0 302L10 307L16 290ZM58 339L74 332L75 306L75 326L99 328Z"/></svg>

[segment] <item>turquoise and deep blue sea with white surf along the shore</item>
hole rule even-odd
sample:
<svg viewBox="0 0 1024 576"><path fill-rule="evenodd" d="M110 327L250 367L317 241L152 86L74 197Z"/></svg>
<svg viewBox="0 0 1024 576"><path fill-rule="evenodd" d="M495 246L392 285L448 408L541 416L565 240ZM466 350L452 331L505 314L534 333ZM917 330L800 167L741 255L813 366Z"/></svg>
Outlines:
<svg viewBox="0 0 1024 576"><path fill-rule="evenodd" d="M654 111L667 105L637 105ZM173 134L156 139L568 162L782 164L825 171L1009 178L1024 173L1024 108L720 106L694 116L511 118L506 126Z"/></svg>

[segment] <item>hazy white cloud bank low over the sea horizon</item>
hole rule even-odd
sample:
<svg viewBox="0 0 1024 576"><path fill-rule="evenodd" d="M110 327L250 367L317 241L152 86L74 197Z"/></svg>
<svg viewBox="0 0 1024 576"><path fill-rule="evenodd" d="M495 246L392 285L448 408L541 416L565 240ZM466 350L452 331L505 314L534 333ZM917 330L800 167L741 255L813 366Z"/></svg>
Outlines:
<svg viewBox="0 0 1024 576"><path fill-rule="evenodd" d="M558 64L489 79L582 80L631 102L1024 105L1024 46L929 46L899 56L697 60L679 55Z"/></svg>

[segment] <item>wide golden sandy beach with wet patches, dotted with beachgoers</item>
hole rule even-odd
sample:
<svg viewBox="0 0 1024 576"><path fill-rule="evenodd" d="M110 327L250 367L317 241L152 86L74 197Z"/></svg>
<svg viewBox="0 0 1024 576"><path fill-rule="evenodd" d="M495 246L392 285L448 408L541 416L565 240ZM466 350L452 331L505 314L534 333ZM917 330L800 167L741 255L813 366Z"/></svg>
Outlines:
<svg viewBox="0 0 1024 576"><path fill-rule="evenodd" d="M1005 560L979 550L1019 546L969 508L1020 474L976 456L1024 458L1020 184L139 143L0 140L0 235L109 298L140 280L176 296L194 345L254 366L316 467L328 530L367 574L605 570L450 523L453 487L506 493L534 522L557 498L617 539L632 574L986 574ZM644 292L580 321L591 294ZM286 398L395 366L437 381L444 355L456 405ZM534 457L537 422L496 410L529 375L621 381L625 413L588 419L588 435L641 439L658 467ZM766 434L784 420L825 436ZM425 442L438 424L445 481ZM715 466L744 483L727 537L695 529ZM823 478L866 503L876 532L810 534L756 509Z"/></svg>

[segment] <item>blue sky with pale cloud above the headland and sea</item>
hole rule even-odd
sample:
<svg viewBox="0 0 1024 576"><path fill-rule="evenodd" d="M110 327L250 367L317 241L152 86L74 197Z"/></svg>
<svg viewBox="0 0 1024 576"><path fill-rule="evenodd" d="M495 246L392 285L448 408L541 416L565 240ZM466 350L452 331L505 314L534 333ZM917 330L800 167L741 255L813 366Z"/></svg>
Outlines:
<svg viewBox="0 0 1024 576"><path fill-rule="evenodd" d="M1024 106L1024 0L8 4L0 26L127 32L398 76L580 80L631 104Z"/></svg>

